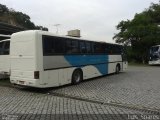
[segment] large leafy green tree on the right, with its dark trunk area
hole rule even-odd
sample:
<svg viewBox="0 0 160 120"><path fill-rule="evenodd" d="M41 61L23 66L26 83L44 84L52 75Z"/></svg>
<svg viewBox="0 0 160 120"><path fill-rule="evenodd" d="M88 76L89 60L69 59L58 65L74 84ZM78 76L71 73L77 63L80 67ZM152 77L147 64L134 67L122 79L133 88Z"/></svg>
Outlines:
<svg viewBox="0 0 160 120"><path fill-rule="evenodd" d="M121 21L119 33L113 37L117 43L130 44L132 55L139 62L147 62L149 48L160 44L160 2L136 14L132 20Z"/></svg>

